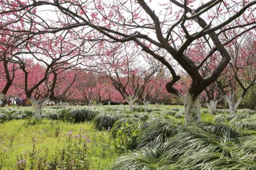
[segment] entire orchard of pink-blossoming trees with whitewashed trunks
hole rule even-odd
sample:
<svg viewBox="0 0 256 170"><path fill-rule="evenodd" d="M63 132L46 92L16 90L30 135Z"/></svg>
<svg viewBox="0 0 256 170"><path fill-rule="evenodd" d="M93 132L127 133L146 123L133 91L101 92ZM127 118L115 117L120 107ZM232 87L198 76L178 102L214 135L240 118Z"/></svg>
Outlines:
<svg viewBox="0 0 256 170"><path fill-rule="evenodd" d="M185 126L201 120L201 93L212 113L222 96L233 114L255 83L255 4L2 0L2 98L15 79L21 81L13 88L24 89L40 118L42 107L70 96L75 82L84 95L99 79L104 88L112 84L131 109L140 98L155 98L145 94L148 87L164 93L164 84L184 104ZM100 76L81 76L86 71Z"/></svg>

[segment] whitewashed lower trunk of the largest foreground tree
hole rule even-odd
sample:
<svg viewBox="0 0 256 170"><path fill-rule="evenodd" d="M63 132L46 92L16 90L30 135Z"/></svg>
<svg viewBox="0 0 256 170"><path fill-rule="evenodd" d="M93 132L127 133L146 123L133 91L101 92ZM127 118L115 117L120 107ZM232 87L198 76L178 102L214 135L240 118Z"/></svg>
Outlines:
<svg viewBox="0 0 256 170"><path fill-rule="evenodd" d="M194 98L191 94L183 96L185 127L193 122L201 122L201 105L199 96Z"/></svg>

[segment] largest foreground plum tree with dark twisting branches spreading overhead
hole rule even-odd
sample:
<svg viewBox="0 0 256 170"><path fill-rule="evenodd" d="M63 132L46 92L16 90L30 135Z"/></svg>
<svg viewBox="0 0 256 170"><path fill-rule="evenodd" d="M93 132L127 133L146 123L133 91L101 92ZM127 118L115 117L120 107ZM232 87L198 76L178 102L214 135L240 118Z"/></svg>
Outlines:
<svg viewBox="0 0 256 170"><path fill-rule="evenodd" d="M200 122L199 94L218 79L231 60L225 45L255 28L252 12L255 4L255 1L240 0L165 0L158 3L150 0L3 0L0 15L11 16L15 13L16 18L4 22L4 27L18 21L30 25L19 29L27 39L38 34L75 30L79 38L90 42L136 43L172 74L166 89L183 101L187 126L191 122ZM40 17L42 14L36 13L38 8L46 6L53 7L51 11L56 13L57 19L43 19ZM37 27L34 27L34 23ZM233 26L233 23L238 25ZM220 38L237 28L243 31L228 40ZM189 57L188 49L199 43L206 44L207 54L197 64ZM159 49L167 55L162 56ZM212 61L217 53L220 54L219 63L211 75L205 77L199 70L208 63L206 61ZM178 63L192 80L185 95L174 86L180 80L174 63Z"/></svg>

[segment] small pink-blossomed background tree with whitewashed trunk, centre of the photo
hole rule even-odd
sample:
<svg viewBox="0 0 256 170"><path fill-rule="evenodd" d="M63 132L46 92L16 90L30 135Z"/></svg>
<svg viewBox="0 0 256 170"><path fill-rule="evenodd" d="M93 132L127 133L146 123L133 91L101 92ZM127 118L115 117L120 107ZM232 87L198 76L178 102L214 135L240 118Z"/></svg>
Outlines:
<svg viewBox="0 0 256 170"><path fill-rule="evenodd" d="M108 56L101 57L101 74L112 81L115 89L129 104L130 111L133 111L135 102L143 98L142 95L153 81L158 68L141 65L139 58L143 59L143 56L135 46L132 50L129 45L119 45L111 49L113 50L105 48L107 52L104 53Z"/></svg>

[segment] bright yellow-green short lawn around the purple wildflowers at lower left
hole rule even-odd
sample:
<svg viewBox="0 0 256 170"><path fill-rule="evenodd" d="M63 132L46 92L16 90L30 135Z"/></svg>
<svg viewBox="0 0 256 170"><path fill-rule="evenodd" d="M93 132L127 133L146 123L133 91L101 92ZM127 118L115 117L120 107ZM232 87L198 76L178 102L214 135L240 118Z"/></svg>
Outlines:
<svg viewBox="0 0 256 170"><path fill-rule="evenodd" d="M37 139L36 147L41 151L48 150L48 159L53 160L56 152L61 149L68 131L78 134L82 128L86 135L90 136L89 149L92 154L92 169L108 169L107 166L118 156L114 149L101 157L99 138L102 138L100 131L95 131L92 123L71 124L59 122L61 133L55 137L55 120L43 119L40 124L27 125L27 120L11 120L0 124L0 148L7 149L5 153L5 168L12 169L16 163L16 155L25 154L32 150L32 138Z"/></svg>

